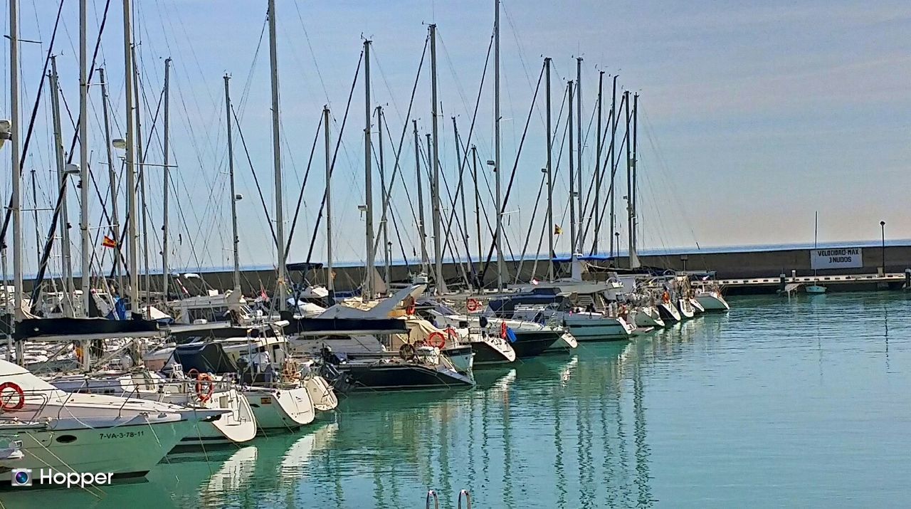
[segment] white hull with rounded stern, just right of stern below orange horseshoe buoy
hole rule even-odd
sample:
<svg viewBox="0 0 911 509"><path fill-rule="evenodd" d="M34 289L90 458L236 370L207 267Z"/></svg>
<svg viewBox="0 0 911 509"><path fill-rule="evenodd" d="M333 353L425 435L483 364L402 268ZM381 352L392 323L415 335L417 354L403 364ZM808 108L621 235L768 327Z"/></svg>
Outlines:
<svg viewBox="0 0 911 509"><path fill-rule="evenodd" d="M296 430L316 418L310 394L303 387L251 387L242 392L256 416L260 431Z"/></svg>

